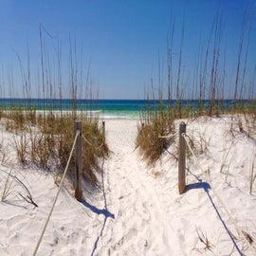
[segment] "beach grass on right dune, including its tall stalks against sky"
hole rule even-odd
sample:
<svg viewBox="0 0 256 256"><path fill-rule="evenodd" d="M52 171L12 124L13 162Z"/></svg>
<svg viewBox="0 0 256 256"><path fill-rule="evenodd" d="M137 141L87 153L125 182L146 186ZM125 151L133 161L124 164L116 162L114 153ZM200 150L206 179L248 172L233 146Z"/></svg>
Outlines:
<svg viewBox="0 0 256 256"><path fill-rule="evenodd" d="M226 58L227 52L223 50L224 24L222 15L217 15L210 29L209 37L205 38L204 46L199 46L198 56L193 69L193 79L185 78L183 73L184 51L184 22L181 31L175 34L175 23L171 21L170 35L167 44L167 77L163 78L159 72L159 79L154 84L151 80L150 90L155 100L155 87L158 92L156 106L152 109L148 104L140 115L138 126L137 147L141 155L152 164L157 161L168 147L168 141L160 138L160 135L174 133L174 120L197 119L199 117L219 118L222 115L231 115L230 132L233 136L239 133L247 137L255 138L256 128L256 105L255 105L255 66L248 66L247 54L250 41L247 29L247 10L241 29L241 37L238 45L236 73L231 84L226 81ZM178 42L174 39L178 38ZM177 47L174 47L177 46ZM246 48L244 48L247 46ZM173 53L177 52L177 58ZM160 64L159 64L160 66ZM253 74L246 76L247 68L251 68ZM159 70L163 69L160 66ZM186 82L187 81L187 82ZM167 84L167 88L164 89ZM188 86L188 84L190 84ZM190 90L191 88L191 90ZM164 94L164 91L168 93ZM226 100L225 92L229 91L229 101ZM148 92L147 95L150 95ZM165 97L164 97L165 96ZM148 98L148 97L147 97ZM163 104L163 99L168 99ZM191 99L191 100L188 100ZM169 125L171 123L171 126ZM172 128L173 126L173 128ZM208 147L208 141L200 138L201 151Z"/></svg>

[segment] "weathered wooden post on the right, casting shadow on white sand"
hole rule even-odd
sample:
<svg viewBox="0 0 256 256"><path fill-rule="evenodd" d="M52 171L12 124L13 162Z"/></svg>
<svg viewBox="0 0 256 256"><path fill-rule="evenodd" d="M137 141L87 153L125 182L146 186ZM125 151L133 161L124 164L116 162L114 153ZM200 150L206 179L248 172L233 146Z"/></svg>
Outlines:
<svg viewBox="0 0 256 256"><path fill-rule="evenodd" d="M186 123L182 121L179 125L179 151L178 151L178 192L183 193L186 189Z"/></svg>

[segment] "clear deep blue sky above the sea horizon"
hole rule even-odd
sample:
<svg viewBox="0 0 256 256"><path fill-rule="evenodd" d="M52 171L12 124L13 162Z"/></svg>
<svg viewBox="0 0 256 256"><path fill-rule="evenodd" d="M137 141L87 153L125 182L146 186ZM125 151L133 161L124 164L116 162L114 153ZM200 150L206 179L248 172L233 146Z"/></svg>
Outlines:
<svg viewBox="0 0 256 256"><path fill-rule="evenodd" d="M246 73L247 80L251 81L256 64L256 0L0 0L2 96L8 96L12 84L10 77L13 78L12 96L23 96L19 58L26 70L27 56L32 95L40 95L40 24L53 77L57 73L59 42L64 83L68 83L66 69L71 40L73 52L76 44L77 56L82 60L83 76L86 77L89 70L90 82L99 90L101 99L143 99L145 88L148 90L152 79L153 87L158 87L159 77L165 91L168 35L174 25L172 58L176 81L183 20L181 86L188 92L192 90L199 48L206 49L210 27L221 13L223 36L218 54L225 56L220 59L222 63L226 59L229 97L235 81L245 9L248 19L244 50L251 21ZM242 64L245 56L244 52ZM52 81L57 87L53 78Z"/></svg>

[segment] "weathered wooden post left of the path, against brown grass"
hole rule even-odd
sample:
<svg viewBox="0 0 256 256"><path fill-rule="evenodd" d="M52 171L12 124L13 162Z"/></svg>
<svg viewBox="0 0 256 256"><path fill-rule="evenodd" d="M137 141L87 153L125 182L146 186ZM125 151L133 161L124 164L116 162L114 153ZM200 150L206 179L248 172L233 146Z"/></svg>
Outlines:
<svg viewBox="0 0 256 256"><path fill-rule="evenodd" d="M75 197L82 201L82 121L76 121L76 133L79 131L79 136L76 143L76 170L75 170Z"/></svg>

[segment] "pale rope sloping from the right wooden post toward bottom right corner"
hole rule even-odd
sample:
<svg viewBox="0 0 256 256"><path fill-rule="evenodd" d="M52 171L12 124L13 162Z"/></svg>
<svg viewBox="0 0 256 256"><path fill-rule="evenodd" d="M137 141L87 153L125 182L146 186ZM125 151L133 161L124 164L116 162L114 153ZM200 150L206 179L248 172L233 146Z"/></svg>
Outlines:
<svg viewBox="0 0 256 256"><path fill-rule="evenodd" d="M182 124L182 123L181 123ZM181 130L181 129L180 129ZM197 167L202 171L202 173L204 174L204 170L202 168L202 166L200 165L196 155L194 154L194 152L192 151L192 147L190 145L190 142L188 140L189 136L186 134L186 130L185 132L182 132L181 133L181 137L184 138L184 140L186 141L186 144L188 146L188 148L190 149L191 153L192 153L192 156L193 156L193 159L197 165ZM210 172L207 172L208 174L208 183L210 185L210 189L212 190L212 192L215 194L216 198L218 199L219 203L221 204L221 206L223 207L223 209L226 211L227 215L229 216L229 219L230 221L232 222L233 226L235 227L238 235L240 235L244 241L246 242L247 244L247 247L250 248L250 250L254 253L254 255L256 255L256 248L253 247L249 241L247 240L247 236L245 235L244 231L237 225L237 222L235 221L235 219L233 218L233 216L230 214L229 210L228 210L228 207L225 205L225 203L223 202L223 200L221 199L220 195L218 194L218 192L216 192L216 190L214 189L214 187L212 186L212 183L211 183L211 180L210 180Z"/></svg>

